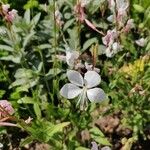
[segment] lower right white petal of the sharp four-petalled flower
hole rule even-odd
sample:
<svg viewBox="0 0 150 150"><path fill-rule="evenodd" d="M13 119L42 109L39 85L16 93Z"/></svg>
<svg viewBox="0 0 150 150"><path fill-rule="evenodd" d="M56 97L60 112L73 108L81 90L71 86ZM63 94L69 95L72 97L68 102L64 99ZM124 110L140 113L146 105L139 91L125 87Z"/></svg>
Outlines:
<svg viewBox="0 0 150 150"><path fill-rule="evenodd" d="M87 90L87 97L91 102L100 102L106 98L105 92L100 88Z"/></svg>

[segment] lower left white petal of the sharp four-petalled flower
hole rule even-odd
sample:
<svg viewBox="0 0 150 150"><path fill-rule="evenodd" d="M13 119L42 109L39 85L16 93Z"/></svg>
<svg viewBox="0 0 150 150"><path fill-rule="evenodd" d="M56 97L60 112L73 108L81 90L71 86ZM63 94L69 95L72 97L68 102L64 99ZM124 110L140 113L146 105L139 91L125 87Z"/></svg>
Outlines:
<svg viewBox="0 0 150 150"><path fill-rule="evenodd" d="M67 99L73 99L77 97L81 92L82 89L71 83L65 84L60 90L60 94Z"/></svg>

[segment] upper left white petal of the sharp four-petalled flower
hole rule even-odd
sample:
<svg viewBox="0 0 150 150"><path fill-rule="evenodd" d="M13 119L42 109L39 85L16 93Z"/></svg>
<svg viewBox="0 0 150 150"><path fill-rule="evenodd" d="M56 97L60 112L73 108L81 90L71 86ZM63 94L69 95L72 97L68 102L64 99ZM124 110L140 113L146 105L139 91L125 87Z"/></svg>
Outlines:
<svg viewBox="0 0 150 150"><path fill-rule="evenodd" d="M84 83L83 77L78 71L68 70L67 77L71 83L78 85L78 86L83 86L83 83Z"/></svg>

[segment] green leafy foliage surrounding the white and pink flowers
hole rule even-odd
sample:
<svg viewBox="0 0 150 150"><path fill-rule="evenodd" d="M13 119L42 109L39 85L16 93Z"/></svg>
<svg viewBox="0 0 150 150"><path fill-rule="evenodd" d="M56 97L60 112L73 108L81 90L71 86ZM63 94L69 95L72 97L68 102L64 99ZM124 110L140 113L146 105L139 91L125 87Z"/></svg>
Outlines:
<svg viewBox="0 0 150 150"><path fill-rule="evenodd" d="M136 28L127 35L122 34L123 51L113 58L102 54L102 36L76 21L73 14L75 0L2 2L9 3L19 14L11 28L1 20L0 28L6 33L0 36L0 98L12 103L15 116L20 120L18 125L28 133L20 137L20 146L39 141L54 149L86 150L91 148L92 141L96 141L113 148L113 137L102 133L95 121L116 113L120 114L120 124L132 131L130 136L120 136L118 142L124 147L129 143L132 147L141 137L149 140L149 0L130 2L130 17L134 19ZM57 27L53 17L56 8L62 13L62 28ZM99 17L102 12L104 16ZM113 26L106 20L109 13L103 0L93 0L86 8L87 18L104 33ZM135 40L141 37L147 39L144 47L135 44ZM59 94L67 82L67 66L55 56L65 52L65 41L71 49L81 53L98 44L97 67L103 79L101 87L108 98L101 104L89 104L87 111L75 107L76 99L69 101ZM144 94L138 90L131 93L136 85L142 87ZM29 116L33 120L26 125L23 120ZM84 141L80 136L85 130L90 138ZM8 134L18 134L7 127L0 128L0 133L1 139ZM126 142L121 142L122 139Z"/></svg>

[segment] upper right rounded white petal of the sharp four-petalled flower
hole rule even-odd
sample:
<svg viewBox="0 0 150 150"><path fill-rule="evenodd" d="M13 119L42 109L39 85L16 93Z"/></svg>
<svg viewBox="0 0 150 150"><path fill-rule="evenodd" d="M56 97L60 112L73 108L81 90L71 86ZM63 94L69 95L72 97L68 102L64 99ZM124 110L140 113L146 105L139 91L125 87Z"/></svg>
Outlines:
<svg viewBox="0 0 150 150"><path fill-rule="evenodd" d="M84 80L87 88L92 88L100 84L101 77L95 71L87 71L84 75Z"/></svg>

